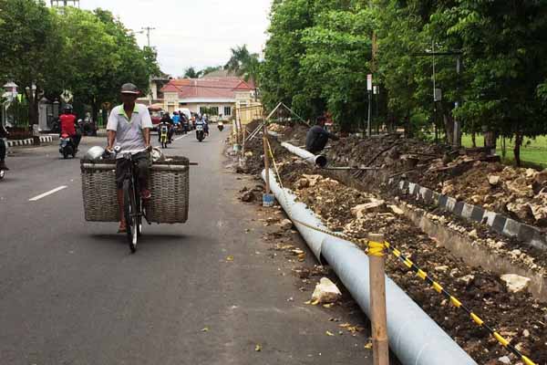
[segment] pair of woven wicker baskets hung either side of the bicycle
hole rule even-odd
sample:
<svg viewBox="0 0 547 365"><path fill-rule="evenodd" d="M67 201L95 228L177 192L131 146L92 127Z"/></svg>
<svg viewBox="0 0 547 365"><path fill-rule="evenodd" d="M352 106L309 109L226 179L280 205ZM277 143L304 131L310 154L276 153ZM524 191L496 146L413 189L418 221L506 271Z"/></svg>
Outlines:
<svg viewBox="0 0 547 365"><path fill-rule="evenodd" d="M81 161L84 212L89 222L119 222L116 198L116 162ZM152 223L185 223L188 220L190 193L189 162L185 157L170 157L154 162L150 168L152 198L145 205Z"/></svg>

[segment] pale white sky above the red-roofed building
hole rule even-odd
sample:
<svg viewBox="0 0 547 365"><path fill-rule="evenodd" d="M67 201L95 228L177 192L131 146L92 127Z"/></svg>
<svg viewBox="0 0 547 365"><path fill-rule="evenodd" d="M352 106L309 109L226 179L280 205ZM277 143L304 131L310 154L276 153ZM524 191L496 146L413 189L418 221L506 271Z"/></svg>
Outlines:
<svg viewBox="0 0 547 365"><path fill-rule="evenodd" d="M181 76L224 65L230 48L247 45L261 53L266 42L272 0L80 0L83 9L101 7L119 16L129 29L150 26L150 46L158 50L163 72ZM136 34L146 46L146 34Z"/></svg>

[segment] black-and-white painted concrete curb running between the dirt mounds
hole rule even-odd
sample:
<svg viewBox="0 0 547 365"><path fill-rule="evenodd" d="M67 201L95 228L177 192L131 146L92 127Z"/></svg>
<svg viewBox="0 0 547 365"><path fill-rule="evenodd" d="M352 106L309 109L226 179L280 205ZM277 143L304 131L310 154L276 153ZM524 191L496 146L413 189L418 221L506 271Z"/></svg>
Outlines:
<svg viewBox="0 0 547 365"><path fill-rule="evenodd" d="M399 194L411 195L412 198L418 201L437 205L439 208L469 221L487 224L493 231L508 237L518 238L525 245L547 250L547 236L532 225L521 224L503 214L490 212L480 206L457 201L448 195L420 186L418 183L394 179L390 179L388 183L394 186L396 190L398 189Z"/></svg>

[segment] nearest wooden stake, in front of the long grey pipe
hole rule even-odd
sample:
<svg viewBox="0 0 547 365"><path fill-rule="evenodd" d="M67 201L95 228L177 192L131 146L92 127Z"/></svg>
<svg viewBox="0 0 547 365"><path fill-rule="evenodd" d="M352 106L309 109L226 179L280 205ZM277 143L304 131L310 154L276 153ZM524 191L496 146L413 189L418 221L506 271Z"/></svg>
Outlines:
<svg viewBox="0 0 547 365"><path fill-rule="evenodd" d="M370 234L368 240L384 243L384 235ZM368 255L370 285L370 321L374 365L389 365L387 339L385 256Z"/></svg>

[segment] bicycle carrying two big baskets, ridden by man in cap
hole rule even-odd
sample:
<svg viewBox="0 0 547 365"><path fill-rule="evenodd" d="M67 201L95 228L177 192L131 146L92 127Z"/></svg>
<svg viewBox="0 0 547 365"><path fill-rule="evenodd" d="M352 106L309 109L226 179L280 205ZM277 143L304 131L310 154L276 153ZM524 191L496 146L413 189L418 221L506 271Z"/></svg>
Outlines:
<svg viewBox="0 0 547 365"><path fill-rule="evenodd" d="M121 148L116 146L114 154L118 155ZM107 151L108 153L108 151ZM133 158L130 152L123 153L123 159L129 161L129 169L125 172L122 183L123 191L123 214L126 221L126 234L128 238L129 249L134 254L137 251L137 241L142 235L142 218L146 219L146 207L140 197L139 178L136 175L137 161Z"/></svg>

